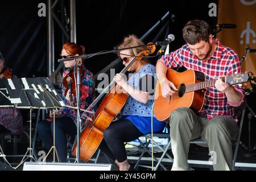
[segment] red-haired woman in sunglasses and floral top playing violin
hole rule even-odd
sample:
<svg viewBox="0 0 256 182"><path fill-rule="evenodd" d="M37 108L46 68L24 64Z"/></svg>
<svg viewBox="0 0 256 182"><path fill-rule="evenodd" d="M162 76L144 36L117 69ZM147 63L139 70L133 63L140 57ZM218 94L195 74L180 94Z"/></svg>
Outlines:
<svg viewBox="0 0 256 182"><path fill-rule="evenodd" d="M61 57L79 56L84 54L84 46L80 46L75 43L65 43L61 51ZM62 88L62 99L65 105L76 106L76 89L69 89L65 86L65 78L73 75L73 69L76 65L76 61L64 61L65 70L63 72L63 88ZM80 108L86 109L94 100L94 80L93 74L88 69L85 68L84 64L81 65L81 97L80 97ZM76 77L75 77L76 78ZM73 80L74 81L74 80ZM67 84L66 84L67 85ZM73 86L74 87L74 86ZM88 117L92 117L89 113ZM38 134L46 148L49 150L53 146L53 113L50 113L49 119L46 121L41 121L38 123ZM59 154L61 162L66 162L67 160L67 137L66 134L75 137L76 135L76 122L77 115L75 109L70 109L70 107L65 107L64 109L55 111L55 146ZM81 123L83 127L86 119Z"/></svg>

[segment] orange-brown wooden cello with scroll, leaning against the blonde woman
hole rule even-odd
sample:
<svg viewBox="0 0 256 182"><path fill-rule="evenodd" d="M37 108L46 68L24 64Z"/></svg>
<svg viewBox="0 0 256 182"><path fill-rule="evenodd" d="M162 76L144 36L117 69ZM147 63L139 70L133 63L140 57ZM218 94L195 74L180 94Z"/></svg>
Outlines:
<svg viewBox="0 0 256 182"><path fill-rule="evenodd" d="M126 65L125 68L119 73L126 73L127 69L134 63L135 59L141 60L143 56L148 56L153 53L156 46L152 43L146 45L146 50L139 52L137 56ZM108 93L108 91L110 92ZM92 158L93 154L96 152L98 146L103 139L104 130L110 125L110 123L117 117L122 107L125 105L129 94L119 93L117 91L117 85L113 80L110 84L103 90L103 92L94 100L94 102L86 109L89 110L90 107L96 105L98 101L106 93L106 96L102 100L100 106L94 114L94 119L86 124L81 132L80 136L80 159L87 162ZM77 140L73 144L72 155L76 156L77 151Z"/></svg>

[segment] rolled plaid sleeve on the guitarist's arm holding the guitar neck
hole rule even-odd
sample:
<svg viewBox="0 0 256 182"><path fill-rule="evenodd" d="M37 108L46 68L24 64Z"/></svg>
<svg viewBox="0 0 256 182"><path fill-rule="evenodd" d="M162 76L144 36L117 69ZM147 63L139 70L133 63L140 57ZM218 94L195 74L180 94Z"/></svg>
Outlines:
<svg viewBox="0 0 256 182"><path fill-rule="evenodd" d="M240 60L238 56L233 59L233 61L230 62L229 68L228 68L228 75L226 76L231 76L237 73L241 73L241 65L240 65ZM242 102L245 100L245 89L242 88L242 86L238 85L233 85L233 88L241 94L241 100L237 104L232 104L228 101L228 104L233 106L233 107L238 107L242 104Z"/></svg>

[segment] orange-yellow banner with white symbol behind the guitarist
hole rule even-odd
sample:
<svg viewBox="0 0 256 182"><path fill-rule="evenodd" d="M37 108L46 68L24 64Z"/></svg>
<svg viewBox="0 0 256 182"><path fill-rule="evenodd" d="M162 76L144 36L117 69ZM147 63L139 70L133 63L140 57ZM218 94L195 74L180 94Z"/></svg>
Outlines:
<svg viewBox="0 0 256 182"><path fill-rule="evenodd" d="M219 0L218 24L236 24L237 28L222 28L217 34L224 46L233 48L240 59L246 47L256 49L256 0ZM251 71L256 76L256 53L247 53L242 71Z"/></svg>

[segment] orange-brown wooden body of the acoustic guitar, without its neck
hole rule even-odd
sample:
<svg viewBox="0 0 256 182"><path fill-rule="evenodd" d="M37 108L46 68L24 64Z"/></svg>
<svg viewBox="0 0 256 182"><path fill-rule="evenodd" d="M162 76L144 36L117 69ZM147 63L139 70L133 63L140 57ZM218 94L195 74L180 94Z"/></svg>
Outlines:
<svg viewBox="0 0 256 182"><path fill-rule="evenodd" d="M174 83L178 91L170 98L164 98L162 96L159 81L157 82L154 111L158 120L170 122L169 117L171 112L179 107L188 107L195 112L202 109L204 105L205 90L201 89L194 92L184 93L184 87L190 84L205 81L205 75L203 73L193 71L192 69L188 69L182 73L176 72L173 69L168 69L166 77L168 80Z"/></svg>

